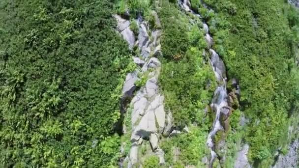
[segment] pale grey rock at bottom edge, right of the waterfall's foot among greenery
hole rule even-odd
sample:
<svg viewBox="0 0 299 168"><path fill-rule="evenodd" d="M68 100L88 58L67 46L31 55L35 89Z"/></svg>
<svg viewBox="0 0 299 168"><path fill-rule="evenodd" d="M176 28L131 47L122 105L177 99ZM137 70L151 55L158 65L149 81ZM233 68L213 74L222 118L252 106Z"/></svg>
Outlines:
<svg viewBox="0 0 299 168"><path fill-rule="evenodd" d="M235 168L251 168L248 163L247 154L249 151L249 145L245 144L242 149L237 153L237 160L235 162Z"/></svg>

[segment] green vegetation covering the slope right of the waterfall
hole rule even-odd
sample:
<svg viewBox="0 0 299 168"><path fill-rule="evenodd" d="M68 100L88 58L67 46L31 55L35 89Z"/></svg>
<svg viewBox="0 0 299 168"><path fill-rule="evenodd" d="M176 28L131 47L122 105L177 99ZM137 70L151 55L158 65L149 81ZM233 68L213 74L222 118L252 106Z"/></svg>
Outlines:
<svg viewBox="0 0 299 168"><path fill-rule="evenodd" d="M240 110L250 120L245 131L250 159L269 167L273 153L285 144L290 110L298 107L299 73L293 63L298 12L284 0L205 2L217 12L209 19L214 47L228 76L241 84Z"/></svg>

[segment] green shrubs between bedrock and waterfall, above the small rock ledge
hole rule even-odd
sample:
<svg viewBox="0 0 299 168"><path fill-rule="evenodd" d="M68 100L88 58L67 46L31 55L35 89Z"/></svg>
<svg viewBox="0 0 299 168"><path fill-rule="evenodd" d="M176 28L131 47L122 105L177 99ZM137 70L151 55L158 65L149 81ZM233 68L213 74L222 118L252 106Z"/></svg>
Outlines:
<svg viewBox="0 0 299 168"><path fill-rule="evenodd" d="M203 110L209 104L216 83L208 61L202 56L207 44L197 26L200 23L188 30L187 17L169 2L164 2L158 15L163 30L159 81L165 108L173 113L175 126L202 124Z"/></svg>

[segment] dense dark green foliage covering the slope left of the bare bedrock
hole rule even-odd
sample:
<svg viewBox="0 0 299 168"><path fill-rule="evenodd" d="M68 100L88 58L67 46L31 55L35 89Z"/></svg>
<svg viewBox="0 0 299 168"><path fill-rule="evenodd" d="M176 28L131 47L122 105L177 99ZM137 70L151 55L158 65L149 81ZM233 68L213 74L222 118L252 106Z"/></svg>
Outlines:
<svg viewBox="0 0 299 168"><path fill-rule="evenodd" d="M1 167L117 166L130 51L110 0L0 1Z"/></svg>

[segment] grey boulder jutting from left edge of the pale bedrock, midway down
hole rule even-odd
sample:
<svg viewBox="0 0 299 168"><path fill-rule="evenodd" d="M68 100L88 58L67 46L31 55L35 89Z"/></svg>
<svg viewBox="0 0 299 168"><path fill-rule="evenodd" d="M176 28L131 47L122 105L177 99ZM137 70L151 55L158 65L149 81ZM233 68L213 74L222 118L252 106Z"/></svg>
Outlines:
<svg viewBox="0 0 299 168"><path fill-rule="evenodd" d="M133 95L133 92L136 88L135 82L138 80L137 74L138 74L138 72L134 71L132 73L129 73L126 76L125 82L122 87L122 94L124 96L132 96Z"/></svg>

